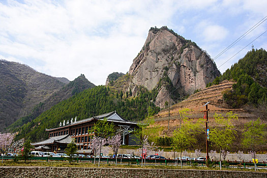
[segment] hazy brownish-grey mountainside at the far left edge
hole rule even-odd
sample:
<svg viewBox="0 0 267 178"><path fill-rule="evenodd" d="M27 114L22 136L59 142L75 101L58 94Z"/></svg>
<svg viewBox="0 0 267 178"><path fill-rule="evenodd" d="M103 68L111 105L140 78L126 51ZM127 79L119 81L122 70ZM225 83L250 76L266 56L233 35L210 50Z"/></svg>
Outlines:
<svg viewBox="0 0 267 178"><path fill-rule="evenodd" d="M0 60L0 132L64 85L26 65Z"/></svg>

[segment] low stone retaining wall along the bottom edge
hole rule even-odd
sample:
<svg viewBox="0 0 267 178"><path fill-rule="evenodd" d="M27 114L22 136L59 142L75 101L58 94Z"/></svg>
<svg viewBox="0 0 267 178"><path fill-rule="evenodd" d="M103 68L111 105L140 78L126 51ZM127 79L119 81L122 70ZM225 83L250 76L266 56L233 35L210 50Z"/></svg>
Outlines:
<svg viewBox="0 0 267 178"><path fill-rule="evenodd" d="M0 167L0 177L257 177L267 173L179 170L179 169L127 169L127 168L64 168L64 167Z"/></svg>

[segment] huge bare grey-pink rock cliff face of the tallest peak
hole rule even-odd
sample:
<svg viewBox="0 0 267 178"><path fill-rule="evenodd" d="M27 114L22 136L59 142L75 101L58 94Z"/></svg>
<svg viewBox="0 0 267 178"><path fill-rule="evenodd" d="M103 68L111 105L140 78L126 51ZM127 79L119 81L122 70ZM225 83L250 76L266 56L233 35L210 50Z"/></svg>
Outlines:
<svg viewBox="0 0 267 178"><path fill-rule="evenodd" d="M209 55L194 42L165 27L150 30L143 48L133 60L129 74L132 76L132 86L142 85L151 91L159 86L165 76L173 87L186 94L204 88L220 75ZM156 99L160 107L170 98L166 92L172 91L161 85Z"/></svg>

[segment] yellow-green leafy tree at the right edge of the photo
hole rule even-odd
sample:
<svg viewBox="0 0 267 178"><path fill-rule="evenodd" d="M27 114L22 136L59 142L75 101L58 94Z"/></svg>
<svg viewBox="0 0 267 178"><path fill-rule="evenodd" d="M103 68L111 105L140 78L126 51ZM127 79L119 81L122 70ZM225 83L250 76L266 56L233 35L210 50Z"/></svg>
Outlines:
<svg viewBox="0 0 267 178"><path fill-rule="evenodd" d="M259 150L260 146L266 144L266 125L261 124L259 118L256 121L250 121L245 125L243 132L242 144L245 148L250 149L253 152L254 160L256 160L256 151ZM256 171L256 161L255 171Z"/></svg>

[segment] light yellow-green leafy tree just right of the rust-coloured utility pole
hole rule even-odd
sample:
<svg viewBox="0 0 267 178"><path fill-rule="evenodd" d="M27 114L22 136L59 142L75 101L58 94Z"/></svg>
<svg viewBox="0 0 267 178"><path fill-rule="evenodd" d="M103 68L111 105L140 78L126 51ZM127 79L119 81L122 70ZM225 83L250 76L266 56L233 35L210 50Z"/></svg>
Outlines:
<svg viewBox="0 0 267 178"><path fill-rule="evenodd" d="M226 118L221 114L214 114L216 126L210 129L210 141L220 148L220 169L222 150L230 149L236 135L236 130L232 122L238 120L238 115L233 114L232 111L226 114Z"/></svg>

